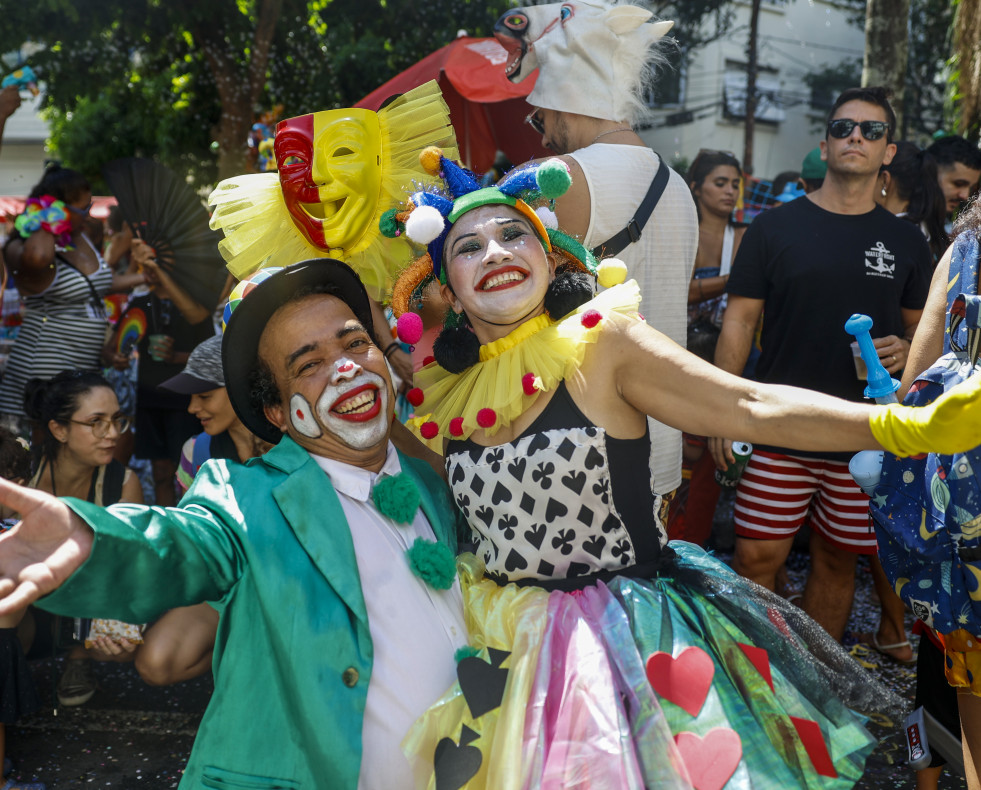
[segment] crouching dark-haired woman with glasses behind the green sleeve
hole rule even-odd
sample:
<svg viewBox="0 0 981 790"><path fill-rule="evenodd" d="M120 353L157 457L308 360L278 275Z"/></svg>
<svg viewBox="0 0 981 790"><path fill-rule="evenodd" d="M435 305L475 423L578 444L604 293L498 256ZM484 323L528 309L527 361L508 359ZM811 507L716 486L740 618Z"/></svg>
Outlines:
<svg viewBox="0 0 981 790"><path fill-rule="evenodd" d="M142 504L140 481L113 458L129 418L120 411L116 393L102 376L64 370L50 381L31 379L24 410L41 435L35 445L31 488L102 506ZM110 644L104 637L94 643L91 649L79 645L69 653L58 681L62 705L82 705L95 693L92 659L129 660L135 649L133 643Z"/></svg>

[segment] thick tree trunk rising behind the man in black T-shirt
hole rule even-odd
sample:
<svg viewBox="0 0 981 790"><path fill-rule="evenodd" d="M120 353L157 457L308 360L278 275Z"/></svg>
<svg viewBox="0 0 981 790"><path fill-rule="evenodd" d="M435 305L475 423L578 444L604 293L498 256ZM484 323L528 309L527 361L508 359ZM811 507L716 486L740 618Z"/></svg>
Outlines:
<svg viewBox="0 0 981 790"><path fill-rule="evenodd" d="M862 87L892 89L896 129L903 127L903 94L909 55L909 0L868 0L865 7L865 57Z"/></svg>

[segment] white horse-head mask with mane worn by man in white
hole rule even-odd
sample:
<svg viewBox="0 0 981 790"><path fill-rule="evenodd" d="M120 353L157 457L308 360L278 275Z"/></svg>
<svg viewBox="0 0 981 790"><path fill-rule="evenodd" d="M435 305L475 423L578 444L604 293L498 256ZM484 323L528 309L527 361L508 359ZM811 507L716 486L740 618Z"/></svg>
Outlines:
<svg viewBox="0 0 981 790"><path fill-rule="evenodd" d="M529 104L633 125L650 111L645 93L664 61L656 45L673 24L634 5L574 0L512 9L494 35L508 79L538 69Z"/></svg>

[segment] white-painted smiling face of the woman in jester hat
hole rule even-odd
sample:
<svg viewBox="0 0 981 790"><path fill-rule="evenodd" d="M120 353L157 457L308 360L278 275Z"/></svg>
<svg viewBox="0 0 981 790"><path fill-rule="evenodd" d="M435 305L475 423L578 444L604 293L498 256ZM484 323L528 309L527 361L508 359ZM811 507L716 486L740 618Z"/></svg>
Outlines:
<svg viewBox="0 0 981 790"><path fill-rule="evenodd" d="M466 312L481 342L540 314L553 266L528 219L482 206L457 220L443 248L443 298Z"/></svg>

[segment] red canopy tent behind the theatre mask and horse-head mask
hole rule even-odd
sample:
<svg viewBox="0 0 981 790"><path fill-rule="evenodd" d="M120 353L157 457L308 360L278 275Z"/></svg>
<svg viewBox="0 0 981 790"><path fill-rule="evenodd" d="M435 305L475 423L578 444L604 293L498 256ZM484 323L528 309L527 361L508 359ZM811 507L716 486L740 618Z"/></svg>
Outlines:
<svg viewBox="0 0 981 790"><path fill-rule="evenodd" d="M506 60L496 39L461 37L393 77L357 106L377 110L390 96L436 80L450 108L460 157L471 170L490 170L499 150L514 164L546 156L541 135L524 123L532 110L525 96L538 75L511 83L504 76Z"/></svg>

